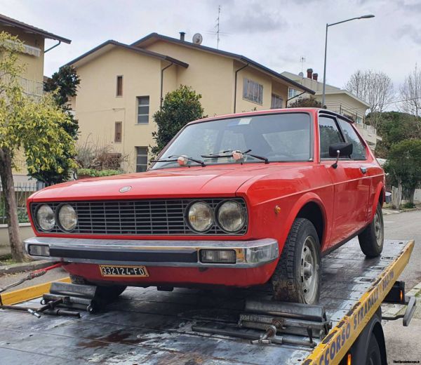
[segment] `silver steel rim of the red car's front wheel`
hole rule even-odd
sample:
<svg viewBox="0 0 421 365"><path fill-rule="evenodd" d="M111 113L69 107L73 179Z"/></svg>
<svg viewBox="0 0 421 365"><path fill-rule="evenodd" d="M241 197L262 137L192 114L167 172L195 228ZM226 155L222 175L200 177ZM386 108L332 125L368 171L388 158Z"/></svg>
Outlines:
<svg viewBox="0 0 421 365"><path fill-rule="evenodd" d="M312 236L307 237L302 246L301 284L305 303L314 303L319 286L319 263L316 253L316 241Z"/></svg>

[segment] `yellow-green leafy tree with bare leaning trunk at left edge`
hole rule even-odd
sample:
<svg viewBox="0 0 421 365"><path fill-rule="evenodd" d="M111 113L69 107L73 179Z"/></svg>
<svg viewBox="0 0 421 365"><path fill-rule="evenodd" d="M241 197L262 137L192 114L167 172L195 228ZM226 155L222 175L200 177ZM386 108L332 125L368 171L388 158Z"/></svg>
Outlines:
<svg viewBox="0 0 421 365"><path fill-rule="evenodd" d="M20 241L12 168L18 150L25 152L29 173L48 170L60 172L56 156L74 153L74 140L65 131L70 123L53 95L39 100L29 98L20 86L25 65L18 60L23 50L18 37L0 32L0 178L6 202L6 218L14 260L25 260ZM69 161L69 164L72 162Z"/></svg>

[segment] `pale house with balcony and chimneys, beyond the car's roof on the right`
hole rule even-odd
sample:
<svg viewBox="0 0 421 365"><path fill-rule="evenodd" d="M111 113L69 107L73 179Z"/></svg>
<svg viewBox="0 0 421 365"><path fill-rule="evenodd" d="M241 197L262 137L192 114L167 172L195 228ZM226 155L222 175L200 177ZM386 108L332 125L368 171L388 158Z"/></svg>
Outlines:
<svg viewBox="0 0 421 365"><path fill-rule="evenodd" d="M318 74L313 73L312 69L307 69L307 77L303 74L293 74L291 72L282 72L283 76L292 79L302 86L312 89L315 92L314 97L316 100L321 102L321 96L323 93L323 82L318 81ZM300 95L300 96L298 96ZM302 93L302 91L290 88L288 91L288 100L293 102L296 98L308 97L308 93ZM368 105L365 101L357 98L347 90L337 88L326 84L326 99L325 104L328 110L338 112L339 114L345 115L356 122L356 128L358 128L361 136L366 140L370 148L374 151L375 145L378 140L382 138L377 135L377 132L373 126L369 126L364 123L365 115L367 112ZM289 104L288 104L289 105Z"/></svg>

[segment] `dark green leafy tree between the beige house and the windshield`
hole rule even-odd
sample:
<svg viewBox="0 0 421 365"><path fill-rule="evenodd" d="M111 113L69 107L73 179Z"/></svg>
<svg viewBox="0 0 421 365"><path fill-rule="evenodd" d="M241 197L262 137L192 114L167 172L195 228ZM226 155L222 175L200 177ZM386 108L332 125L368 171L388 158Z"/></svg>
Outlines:
<svg viewBox="0 0 421 365"><path fill-rule="evenodd" d="M165 95L161 110L153 116L158 126L158 131L152 132L152 137L156 142L151 150L154 156L159 154L189 121L204 117L200 99L200 94L185 85Z"/></svg>

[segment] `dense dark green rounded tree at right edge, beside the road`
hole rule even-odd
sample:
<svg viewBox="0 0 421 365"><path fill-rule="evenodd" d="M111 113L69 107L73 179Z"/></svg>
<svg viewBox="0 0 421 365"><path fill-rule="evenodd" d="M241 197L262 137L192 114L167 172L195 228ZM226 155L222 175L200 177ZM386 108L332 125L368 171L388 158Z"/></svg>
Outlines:
<svg viewBox="0 0 421 365"><path fill-rule="evenodd" d="M399 190L401 187L409 190L413 204L415 189L421 183L421 139L401 140L392 145L384 168L393 185L398 185Z"/></svg>

